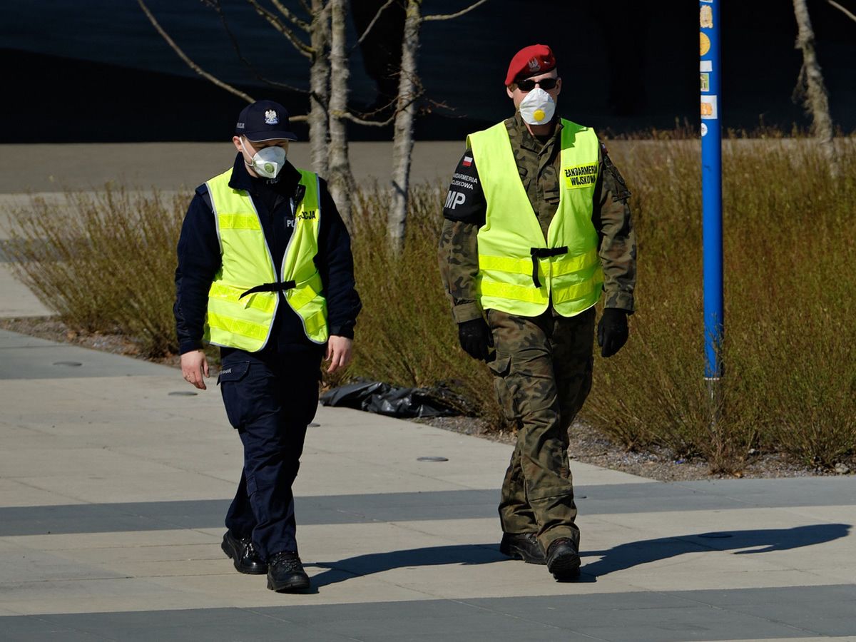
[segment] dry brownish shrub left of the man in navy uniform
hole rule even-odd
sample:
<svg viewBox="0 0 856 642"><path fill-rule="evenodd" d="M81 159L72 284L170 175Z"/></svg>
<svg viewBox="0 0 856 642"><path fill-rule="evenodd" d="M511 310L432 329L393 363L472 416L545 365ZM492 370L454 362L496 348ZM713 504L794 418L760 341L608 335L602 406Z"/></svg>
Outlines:
<svg viewBox="0 0 856 642"><path fill-rule="evenodd" d="M175 351L175 243L187 196L66 192L12 212L15 275L70 327L121 332L145 354Z"/></svg>

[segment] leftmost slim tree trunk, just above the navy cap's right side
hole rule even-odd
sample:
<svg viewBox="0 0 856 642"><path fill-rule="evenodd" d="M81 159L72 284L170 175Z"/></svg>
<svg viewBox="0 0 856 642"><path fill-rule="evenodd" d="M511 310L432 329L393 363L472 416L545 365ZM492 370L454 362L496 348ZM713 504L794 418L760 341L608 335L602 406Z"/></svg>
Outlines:
<svg viewBox="0 0 856 642"><path fill-rule="evenodd" d="M309 68L309 149L312 171L327 176L330 140L328 111L330 109L330 7L324 0L312 0L312 65Z"/></svg>

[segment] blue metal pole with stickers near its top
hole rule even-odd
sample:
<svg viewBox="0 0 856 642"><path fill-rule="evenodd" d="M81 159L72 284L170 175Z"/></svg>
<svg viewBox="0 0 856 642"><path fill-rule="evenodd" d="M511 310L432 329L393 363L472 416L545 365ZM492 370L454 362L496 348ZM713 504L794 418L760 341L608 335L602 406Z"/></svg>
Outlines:
<svg viewBox="0 0 856 642"><path fill-rule="evenodd" d="M701 39L701 181L704 239L704 377L722 377L722 128L720 0L698 3Z"/></svg>

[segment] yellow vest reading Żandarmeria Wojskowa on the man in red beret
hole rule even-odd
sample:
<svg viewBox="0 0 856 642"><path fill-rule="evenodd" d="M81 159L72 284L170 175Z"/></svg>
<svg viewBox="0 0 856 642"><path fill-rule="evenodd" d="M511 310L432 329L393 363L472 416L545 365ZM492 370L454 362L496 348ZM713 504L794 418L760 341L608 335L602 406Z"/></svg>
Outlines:
<svg viewBox="0 0 856 642"><path fill-rule="evenodd" d="M552 301L556 312L573 317L600 299L603 271L591 223L599 143L591 128L562 119L561 144L559 205L544 239L505 123L467 137L487 201L478 236L485 310L536 317Z"/></svg>

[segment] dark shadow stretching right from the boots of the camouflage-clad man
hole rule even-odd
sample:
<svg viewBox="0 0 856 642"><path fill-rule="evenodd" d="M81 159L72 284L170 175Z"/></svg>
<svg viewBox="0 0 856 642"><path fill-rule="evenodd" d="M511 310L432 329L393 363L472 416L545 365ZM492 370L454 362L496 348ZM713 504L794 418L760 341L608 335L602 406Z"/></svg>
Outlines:
<svg viewBox="0 0 856 642"><path fill-rule="evenodd" d="M582 569L582 581L593 581L600 575L623 571L627 568L657 562L684 553L705 550L734 550L735 555L769 553L773 550L792 550L814 544L831 542L847 537L849 524L816 524L794 528L771 528L755 531L704 532L698 535L679 535L674 538L644 539L621 544L609 550L585 550L582 556L602 556L597 562ZM763 548L758 549L758 546ZM752 550L737 550L752 549ZM586 575L590 576L586 580Z"/></svg>

